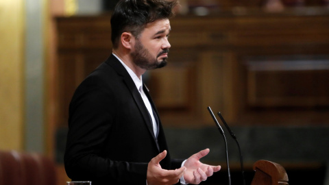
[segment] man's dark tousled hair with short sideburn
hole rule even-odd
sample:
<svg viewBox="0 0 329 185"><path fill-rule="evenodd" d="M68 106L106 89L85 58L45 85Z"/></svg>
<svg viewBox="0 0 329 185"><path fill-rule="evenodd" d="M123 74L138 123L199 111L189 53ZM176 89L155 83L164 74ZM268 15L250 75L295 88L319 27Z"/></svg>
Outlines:
<svg viewBox="0 0 329 185"><path fill-rule="evenodd" d="M123 32L130 32L136 38L147 23L174 16L173 8L178 0L121 0L111 17L111 40L113 48L119 46Z"/></svg>

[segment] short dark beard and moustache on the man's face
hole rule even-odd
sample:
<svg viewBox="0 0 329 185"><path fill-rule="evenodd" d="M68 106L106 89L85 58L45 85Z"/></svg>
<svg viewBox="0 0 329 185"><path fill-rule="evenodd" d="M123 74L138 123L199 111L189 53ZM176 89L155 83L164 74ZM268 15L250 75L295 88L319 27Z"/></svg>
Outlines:
<svg viewBox="0 0 329 185"><path fill-rule="evenodd" d="M153 58L149 51L142 45L141 41L137 40L134 50L135 51L131 54L132 60L136 66L139 66L141 69L158 69L167 65L167 58L158 61L158 57L163 53L169 53L169 49L162 50L158 53L156 58Z"/></svg>

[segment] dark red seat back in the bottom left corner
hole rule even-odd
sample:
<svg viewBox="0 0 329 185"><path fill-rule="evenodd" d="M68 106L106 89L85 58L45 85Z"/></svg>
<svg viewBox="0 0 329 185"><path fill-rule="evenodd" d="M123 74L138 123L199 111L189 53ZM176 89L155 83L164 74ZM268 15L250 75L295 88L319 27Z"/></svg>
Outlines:
<svg viewBox="0 0 329 185"><path fill-rule="evenodd" d="M0 151L0 185L56 185L56 166L38 153Z"/></svg>

